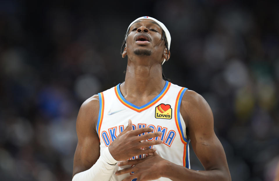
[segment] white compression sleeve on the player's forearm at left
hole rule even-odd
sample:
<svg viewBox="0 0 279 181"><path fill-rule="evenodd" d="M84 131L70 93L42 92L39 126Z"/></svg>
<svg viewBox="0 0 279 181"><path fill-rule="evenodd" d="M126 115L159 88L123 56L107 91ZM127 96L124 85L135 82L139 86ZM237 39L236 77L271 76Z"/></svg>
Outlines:
<svg viewBox="0 0 279 181"><path fill-rule="evenodd" d="M108 181L110 180L110 176L113 174L116 163L117 160L111 156L107 147L97 162L90 169L77 173L74 175L72 181Z"/></svg>

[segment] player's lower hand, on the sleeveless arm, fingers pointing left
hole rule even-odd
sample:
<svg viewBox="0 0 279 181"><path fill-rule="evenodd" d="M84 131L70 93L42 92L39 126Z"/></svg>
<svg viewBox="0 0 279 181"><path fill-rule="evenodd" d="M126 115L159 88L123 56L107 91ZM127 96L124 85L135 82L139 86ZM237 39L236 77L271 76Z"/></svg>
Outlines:
<svg viewBox="0 0 279 181"><path fill-rule="evenodd" d="M167 162L168 161L160 157L158 153L154 152L153 155L149 155L146 158L119 162L117 164L118 166L134 166L119 170L115 174L122 175L124 173L134 172L134 174L126 177L122 181L130 181L134 178L137 178L137 181L155 180L162 177L162 173L164 172L163 168Z"/></svg>

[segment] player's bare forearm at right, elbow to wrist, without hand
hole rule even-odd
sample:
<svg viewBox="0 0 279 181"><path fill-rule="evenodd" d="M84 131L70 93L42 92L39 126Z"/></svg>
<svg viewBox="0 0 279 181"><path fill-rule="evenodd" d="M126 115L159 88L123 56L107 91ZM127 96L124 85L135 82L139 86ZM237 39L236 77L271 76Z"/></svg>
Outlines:
<svg viewBox="0 0 279 181"><path fill-rule="evenodd" d="M196 171L171 162L166 162L163 170L162 176L173 181L231 181L230 174L219 169Z"/></svg>

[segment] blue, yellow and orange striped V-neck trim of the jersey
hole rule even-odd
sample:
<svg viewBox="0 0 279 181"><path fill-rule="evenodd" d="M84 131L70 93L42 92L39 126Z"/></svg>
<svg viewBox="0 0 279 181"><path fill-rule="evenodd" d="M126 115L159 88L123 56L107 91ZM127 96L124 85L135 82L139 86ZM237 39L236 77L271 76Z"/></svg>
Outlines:
<svg viewBox="0 0 279 181"><path fill-rule="evenodd" d="M119 101L122 104L124 104L126 107L128 107L134 111L142 112L142 111L148 109L149 107L153 106L155 103L157 103L168 92L170 86L171 86L171 83L169 81L166 81L166 84L165 84L163 90L160 92L160 94L158 94L155 98L153 98L149 103L146 103L140 107L130 103L123 97L123 95L120 92L120 83L117 86L115 86L114 90L115 90L116 97L119 99Z"/></svg>

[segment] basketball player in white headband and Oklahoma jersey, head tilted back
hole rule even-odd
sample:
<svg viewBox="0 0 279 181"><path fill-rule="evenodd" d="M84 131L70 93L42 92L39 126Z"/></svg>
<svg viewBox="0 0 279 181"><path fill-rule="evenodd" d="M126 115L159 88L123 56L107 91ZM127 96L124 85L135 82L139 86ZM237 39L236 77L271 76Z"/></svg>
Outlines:
<svg viewBox="0 0 279 181"><path fill-rule="evenodd" d="M125 82L92 96L78 113L73 181L231 180L208 103L162 76L170 43L154 18L130 24L121 49ZM190 139L205 171L190 169Z"/></svg>

